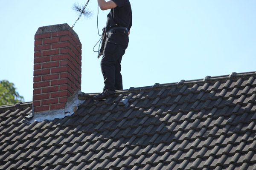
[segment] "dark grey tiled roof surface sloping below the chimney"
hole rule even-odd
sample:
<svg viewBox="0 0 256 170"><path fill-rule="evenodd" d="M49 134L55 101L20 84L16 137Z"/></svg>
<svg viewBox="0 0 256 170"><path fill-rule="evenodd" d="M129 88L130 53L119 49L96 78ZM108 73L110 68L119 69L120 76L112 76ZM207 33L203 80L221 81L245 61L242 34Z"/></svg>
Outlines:
<svg viewBox="0 0 256 170"><path fill-rule="evenodd" d="M0 169L256 170L255 72L87 96L30 125L32 103L0 108Z"/></svg>

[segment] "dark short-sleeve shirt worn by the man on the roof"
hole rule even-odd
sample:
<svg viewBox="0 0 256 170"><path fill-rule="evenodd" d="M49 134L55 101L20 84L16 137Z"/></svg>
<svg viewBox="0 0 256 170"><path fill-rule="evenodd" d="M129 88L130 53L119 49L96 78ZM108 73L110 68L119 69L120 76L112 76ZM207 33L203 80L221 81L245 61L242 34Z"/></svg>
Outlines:
<svg viewBox="0 0 256 170"><path fill-rule="evenodd" d="M132 26L132 11L129 0L112 0L117 7L108 14L106 31L115 26L126 27L128 31Z"/></svg>

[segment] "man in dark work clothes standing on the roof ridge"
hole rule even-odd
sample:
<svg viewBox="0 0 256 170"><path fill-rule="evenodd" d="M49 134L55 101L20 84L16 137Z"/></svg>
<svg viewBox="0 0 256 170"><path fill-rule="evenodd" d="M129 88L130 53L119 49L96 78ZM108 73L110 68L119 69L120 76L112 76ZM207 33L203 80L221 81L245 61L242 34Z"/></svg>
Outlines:
<svg viewBox="0 0 256 170"><path fill-rule="evenodd" d="M101 60L104 78L102 93L93 97L94 100L113 96L116 90L122 90L121 60L128 47L132 11L129 0L98 0L102 10L111 9L106 23L106 42Z"/></svg>

